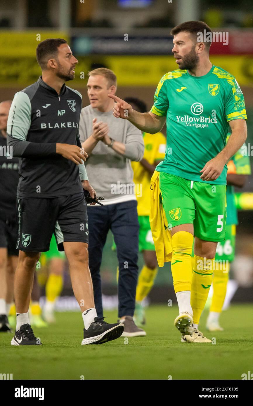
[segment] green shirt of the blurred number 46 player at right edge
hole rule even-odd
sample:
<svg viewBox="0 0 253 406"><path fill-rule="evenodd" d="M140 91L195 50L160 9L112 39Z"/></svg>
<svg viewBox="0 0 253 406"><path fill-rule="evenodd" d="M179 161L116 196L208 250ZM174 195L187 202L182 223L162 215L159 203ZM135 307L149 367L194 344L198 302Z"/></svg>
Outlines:
<svg viewBox="0 0 253 406"><path fill-rule="evenodd" d="M227 136L229 139L231 134ZM246 147L245 144L237 151L229 162L227 162L227 174L236 173L237 175L251 175L250 159L248 155L244 155L243 149ZM235 202L234 186L227 185L227 218L226 224L238 224L238 216Z"/></svg>

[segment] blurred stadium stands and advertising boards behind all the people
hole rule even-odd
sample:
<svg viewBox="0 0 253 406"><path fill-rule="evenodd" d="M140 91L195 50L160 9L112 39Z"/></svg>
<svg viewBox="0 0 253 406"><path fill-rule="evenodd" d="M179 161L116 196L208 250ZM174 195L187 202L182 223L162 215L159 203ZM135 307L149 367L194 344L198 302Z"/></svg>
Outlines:
<svg viewBox="0 0 253 406"><path fill-rule="evenodd" d="M240 8L240 10L239 10ZM87 73L108 67L117 75L119 97L136 96L152 106L161 76L177 68L170 29L184 21L204 20L213 30L229 32L227 45L213 43L211 61L232 73L244 93L248 140L253 145L253 7L252 0L0 0L0 101L35 82L40 68L35 58L39 41L67 39L78 58L76 79L69 83L86 95ZM164 128L164 134L165 134ZM250 150L251 151L251 150ZM253 151L251 151L253 155ZM252 158L251 158L252 166ZM252 168L253 169L253 168ZM236 190L239 225L231 285L234 302L253 300L253 180ZM115 252L108 236L102 262L104 307L117 307ZM126 247L127 249L127 247ZM240 259L240 261L239 261ZM143 265L142 255L139 266ZM65 272L58 310L78 310ZM149 300L174 297L170 264L160 268Z"/></svg>

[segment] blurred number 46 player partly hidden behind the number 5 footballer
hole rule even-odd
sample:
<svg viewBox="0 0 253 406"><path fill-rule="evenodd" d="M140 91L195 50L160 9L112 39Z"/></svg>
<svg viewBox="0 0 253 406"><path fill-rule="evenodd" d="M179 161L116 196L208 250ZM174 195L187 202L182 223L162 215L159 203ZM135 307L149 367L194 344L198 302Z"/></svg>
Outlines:
<svg viewBox="0 0 253 406"><path fill-rule="evenodd" d="M227 136L229 139L231 133ZM245 145L245 144L244 144ZM242 155L241 149L227 162L227 219L225 240L218 242L216 248L216 260L222 260L218 269L213 274L213 296L210 313L206 322L206 328L210 331L222 331L219 324L223 303L229 280L230 263L234 261L236 248L236 225L238 224L237 209L235 203L234 186L242 188L246 182L247 175L251 175L249 156Z"/></svg>

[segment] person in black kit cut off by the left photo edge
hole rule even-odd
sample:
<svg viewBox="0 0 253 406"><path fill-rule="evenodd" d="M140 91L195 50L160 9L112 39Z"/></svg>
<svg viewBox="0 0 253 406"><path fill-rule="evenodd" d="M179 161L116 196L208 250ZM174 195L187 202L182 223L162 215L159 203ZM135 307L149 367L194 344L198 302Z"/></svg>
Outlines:
<svg viewBox="0 0 253 406"><path fill-rule="evenodd" d="M14 274L17 267L18 158L6 148L6 127L11 100L0 103L0 331L11 332L8 321L13 304Z"/></svg>

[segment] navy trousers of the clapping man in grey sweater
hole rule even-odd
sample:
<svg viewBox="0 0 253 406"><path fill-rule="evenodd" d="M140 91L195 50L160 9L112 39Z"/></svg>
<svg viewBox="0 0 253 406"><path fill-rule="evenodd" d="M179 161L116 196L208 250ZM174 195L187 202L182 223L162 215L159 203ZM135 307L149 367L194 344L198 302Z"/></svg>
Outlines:
<svg viewBox="0 0 253 406"><path fill-rule="evenodd" d="M89 268L95 307L103 317L100 265L107 233L112 231L119 261L118 316L133 316L138 280L139 222L137 202L131 200L103 207L87 206L89 222Z"/></svg>

